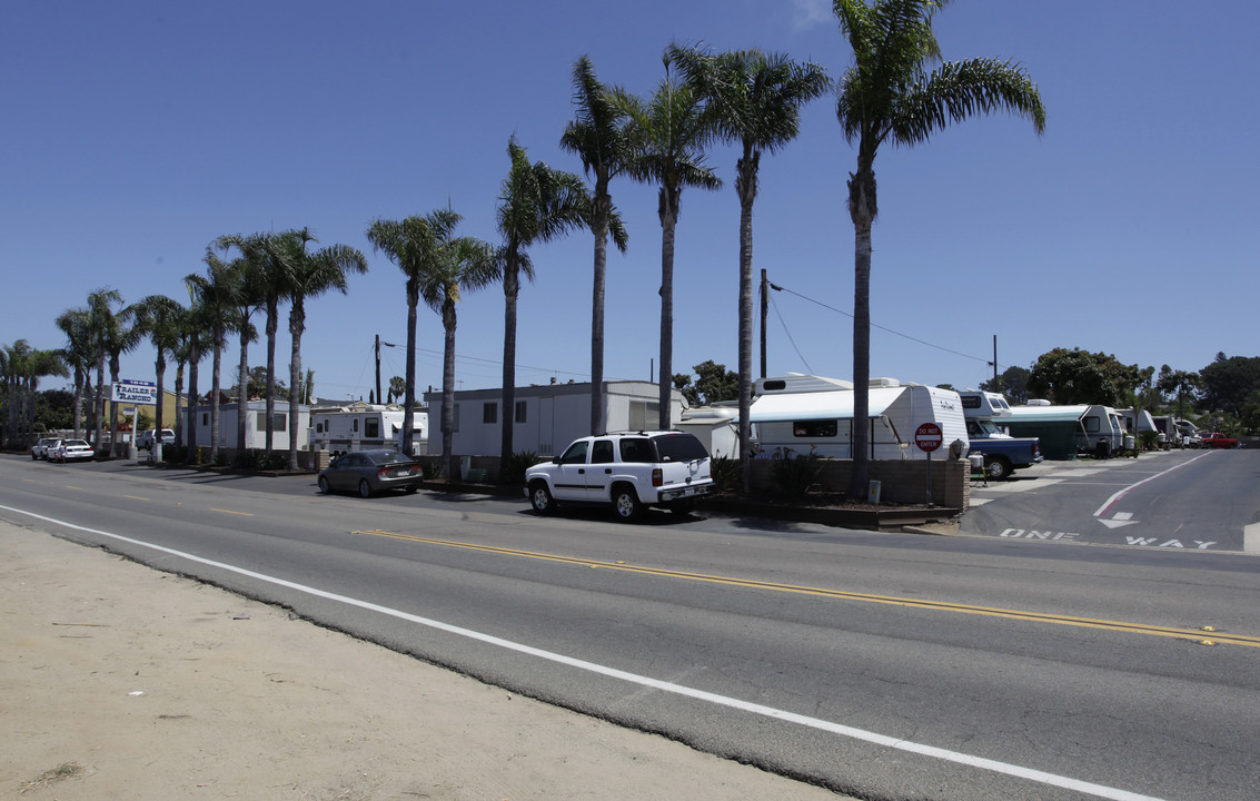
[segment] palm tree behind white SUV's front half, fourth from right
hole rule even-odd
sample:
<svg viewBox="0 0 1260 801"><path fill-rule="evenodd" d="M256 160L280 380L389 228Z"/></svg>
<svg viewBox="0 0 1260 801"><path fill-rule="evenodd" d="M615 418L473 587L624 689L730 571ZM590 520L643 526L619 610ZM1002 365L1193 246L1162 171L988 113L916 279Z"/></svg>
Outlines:
<svg viewBox="0 0 1260 801"><path fill-rule="evenodd" d="M607 271L609 233L622 252L625 228L614 225L616 209L609 194L609 182L635 159L633 140L626 135L626 116L598 78L591 59L583 56L573 66L573 103L577 119L571 121L559 144L582 159L582 168L595 179L591 193L590 228L595 235L595 280L591 300L591 434L604 430L604 276ZM507 414L507 411L504 411Z"/></svg>

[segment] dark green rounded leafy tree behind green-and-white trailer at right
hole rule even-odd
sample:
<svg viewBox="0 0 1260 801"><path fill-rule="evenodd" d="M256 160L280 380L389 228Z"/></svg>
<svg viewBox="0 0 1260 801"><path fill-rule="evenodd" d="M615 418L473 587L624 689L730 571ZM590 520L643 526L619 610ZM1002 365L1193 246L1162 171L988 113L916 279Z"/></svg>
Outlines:
<svg viewBox="0 0 1260 801"><path fill-rule="evenodd" d="M1115 356L1080 348L1055 348L1042 353L1028 375L1028 391L1055 404L1121 406L1144 380L1137 365L1121 365Z"/></svg>

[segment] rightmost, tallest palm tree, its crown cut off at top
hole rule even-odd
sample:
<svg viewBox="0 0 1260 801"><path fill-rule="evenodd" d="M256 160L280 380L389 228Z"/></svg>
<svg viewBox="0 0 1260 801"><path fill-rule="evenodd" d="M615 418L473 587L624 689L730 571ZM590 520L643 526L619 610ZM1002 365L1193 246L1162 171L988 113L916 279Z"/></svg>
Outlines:
<svg viewBox="0 0 1260 801"><path fill-rule="evenodd" d="M833 0L854 63L839 81L835 116L858 165L849 175L853 219L853 474L849 497L866 494L871 382L871 227L878 214L874 158L879 145L914 146L951 122L1005 110L1046 129L1046 108L1017 63L968 59L941 63L932 18L949 0Z"/></svg>

